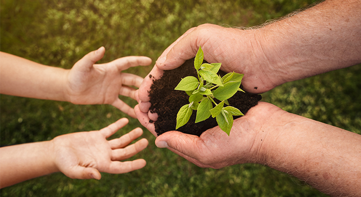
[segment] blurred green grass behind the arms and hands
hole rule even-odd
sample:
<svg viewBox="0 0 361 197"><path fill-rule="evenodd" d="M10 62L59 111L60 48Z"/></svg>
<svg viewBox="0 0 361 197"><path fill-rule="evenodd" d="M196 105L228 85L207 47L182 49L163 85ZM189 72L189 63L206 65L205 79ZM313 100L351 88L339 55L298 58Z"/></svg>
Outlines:
<svg viewBox="0 0 361 197"><path fill-rule="evenodd" d="M109 62L145 55L153 65L186 30L203 23L259 25L315 0L0 0L0 50L45 65L70 69L88 52L105 46ZM152 66L131 68L145 77ZM263 94L282 109L361 133L361 65L289 82ZM136 102L125 99L131 106ZM1 95L1 146L50 140L101 129L127 117L108 105L73 105ZM129 117L128 117L129 118ZM130 118L119 137L140 123ZM142 127L143 128L143 127ZM199 168L167 149L149 146L134 158L147 165L127 174L73 180L61 173L0 190L2 197L324 197L304 182L267 166L243 164Z"/></svg>

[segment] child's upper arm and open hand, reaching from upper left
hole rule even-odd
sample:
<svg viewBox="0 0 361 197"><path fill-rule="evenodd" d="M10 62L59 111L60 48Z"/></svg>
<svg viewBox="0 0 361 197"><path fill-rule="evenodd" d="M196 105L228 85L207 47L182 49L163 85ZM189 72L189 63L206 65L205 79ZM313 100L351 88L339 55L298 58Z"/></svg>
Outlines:
<svg viewBox="0 0 361 197"><path fill-rule="evenodd" d="M105 48L92 51L72 69L45 66L15 55L0 52L0 93L14 96L68 101L73 104L109 104L135 118L134 110L119 95L135 98L143 78L122 73L135 66L147 66L151 59L128 56L105 64L95 64Z"/></svg>

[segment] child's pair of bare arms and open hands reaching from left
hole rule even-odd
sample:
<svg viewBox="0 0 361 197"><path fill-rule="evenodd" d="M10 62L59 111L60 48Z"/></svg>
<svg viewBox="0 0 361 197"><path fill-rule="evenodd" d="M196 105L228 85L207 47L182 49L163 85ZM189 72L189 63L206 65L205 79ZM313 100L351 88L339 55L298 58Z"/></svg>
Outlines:
<svg viewBox="0 0 361 197"><path fill-rule="evenodd" d="M0 93L14 96L68 101L73 104L110 104L135 117L134 109L119 95L135 98L141 77L122 73L135 66L146 66L151 59L128 56L105 64L95 64L105 48L92 51L72 69L45 66L15 55L0 52ZM126 173L145 166L144 159L120 162L131 158L147 145L136 128L121 138L107 141L128 123L123 118L99 131L61 135L53 140L0 148L0 188L53 172L70 178L100 179L100 172ZM129 145L129 146L128 146Z"/></svg>

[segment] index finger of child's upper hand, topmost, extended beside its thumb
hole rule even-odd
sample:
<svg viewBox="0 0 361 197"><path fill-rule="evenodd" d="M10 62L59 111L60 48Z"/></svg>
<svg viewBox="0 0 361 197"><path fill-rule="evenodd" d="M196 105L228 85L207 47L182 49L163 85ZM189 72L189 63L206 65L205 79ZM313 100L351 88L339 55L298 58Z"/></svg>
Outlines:
<svg viewBox="0 0 361 197"><path fill-rule="evenodd" d="M148 66L152 63L152 59L145 56L127 56L118 58L111 63L115 63L119 70L124 71L129 69L130 67Z"/></svg>

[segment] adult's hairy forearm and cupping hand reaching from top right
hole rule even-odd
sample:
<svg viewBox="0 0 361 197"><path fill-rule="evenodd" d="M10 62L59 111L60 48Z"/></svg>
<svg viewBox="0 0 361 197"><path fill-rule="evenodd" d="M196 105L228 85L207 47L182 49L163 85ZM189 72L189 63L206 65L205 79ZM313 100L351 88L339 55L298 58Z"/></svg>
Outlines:
<svg viewBox="0 0 361 197"><path fill-rule="evenodd" d="M361 0L326 0L282 20L251 29L204 24L189 29L156 61L150 75L181 66L199 46L208 62L244 74L244 90L266 92L287 81L304 79L361 63ZM139 88L146 112L152 79Z"/></svg>

